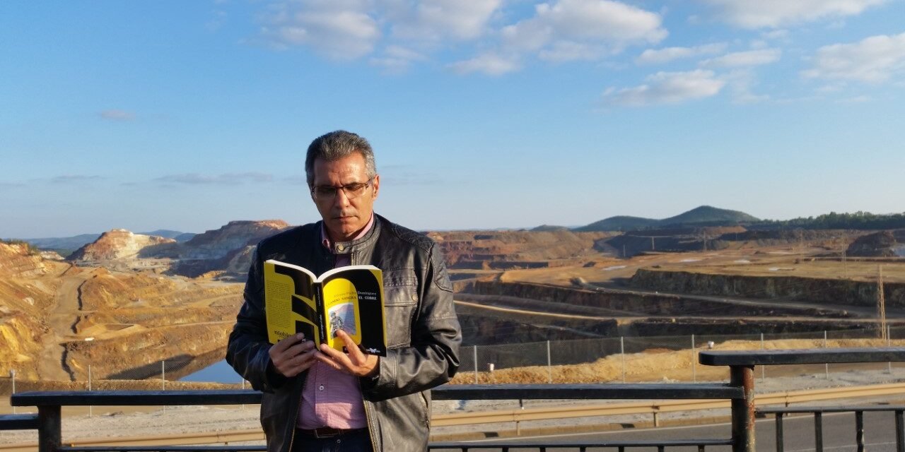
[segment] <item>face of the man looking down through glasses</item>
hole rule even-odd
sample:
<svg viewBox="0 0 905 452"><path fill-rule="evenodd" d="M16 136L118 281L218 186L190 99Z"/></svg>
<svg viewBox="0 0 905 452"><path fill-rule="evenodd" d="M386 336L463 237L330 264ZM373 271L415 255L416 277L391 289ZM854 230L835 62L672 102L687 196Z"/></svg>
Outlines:
<svg viewBox="0 0 905 452"><path fill-rule="evenodd" d="M314 160L314 187L339 188L350 184L366 184L367 171L365 157L354 153L334 162L322 158ZM348 241L365 229L374 212L374 200L380 187L380 176L365 187L355 199L348 199L343 190L336 190L331 197L312 196L318 206L320 217L324 219L330 240ZM325 198L325 199L322 199Z"/></svg>

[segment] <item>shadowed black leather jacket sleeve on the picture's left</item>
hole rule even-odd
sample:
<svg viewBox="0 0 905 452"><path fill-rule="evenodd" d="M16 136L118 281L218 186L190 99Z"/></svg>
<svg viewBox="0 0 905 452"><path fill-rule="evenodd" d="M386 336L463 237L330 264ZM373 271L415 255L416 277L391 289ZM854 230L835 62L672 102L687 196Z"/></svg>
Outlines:
<svg viewBox="0 0 905 452"><path fill-rule="evenodd" d="M259 245L260 246L260 245ZM226 362L258 391L272 392L286 378L276 372L268 351L267 320L264 315L262 261L254 250L248 281L243 291L244 303L236 315L233 333L226 346Z"/></svg>

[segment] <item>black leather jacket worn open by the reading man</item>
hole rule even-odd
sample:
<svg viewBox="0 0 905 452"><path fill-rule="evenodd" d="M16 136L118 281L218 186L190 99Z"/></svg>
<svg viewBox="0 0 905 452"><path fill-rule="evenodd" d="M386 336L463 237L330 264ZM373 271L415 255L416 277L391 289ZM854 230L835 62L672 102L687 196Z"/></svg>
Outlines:
<svg viewBox="0 0 905 452"><path fill-rule="evenodd" d="M316 275L333 268L335 257L321 244L320 225L283 231L258 244L226 351L233 369L263 391L261 424L270 452L290 450L307 372L287 379L271 364L262 263L278 259ZM365 237L333 246L350 254L353 265L372 264L384 272L389 350L376 377L359 379L372 445L375 451L426 450L429 390L455 374L462 343L443 256L433 240L379 215Z"/></svg>

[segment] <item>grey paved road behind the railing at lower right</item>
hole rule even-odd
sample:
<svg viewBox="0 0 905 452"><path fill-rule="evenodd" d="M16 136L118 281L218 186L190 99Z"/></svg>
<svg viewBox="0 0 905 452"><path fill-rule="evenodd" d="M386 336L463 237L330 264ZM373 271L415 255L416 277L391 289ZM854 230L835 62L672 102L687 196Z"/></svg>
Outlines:
<svg viewBox="0 0 905 452"><path fill-rule="evenodd" d="M893 452L896 450L895 435L895 418L891 412L866 412L864 413L864 438L865 450L868 452ZM785 432L785 452L808 452L814 451L814 418L811 416L796 416L794 418L785 419L783 423L783 431ZM757 421L757 451L772 452L776 451L776 429L775 421L772 417L769 419L760 419ZM485 439L482 441L491 441L495 443L516 443L516 442L548 442L566 443L569 441L591 441L591 440L638 440L638 439L682 439L682 438L729 438L731 435L729 424L720 424L712 426L696 426L696 427L673 427L673 428L645 428L639 430L619 430L600 434L569 434L545 437L531 438L500 438ZM855 447L855 429L854 414L839 413L824 415L824 451L826 452L854 452ZM491 451L500 449L471 449L472 452ZM514 451L538 450L529 448L510 448ZM548 447L548 452L577 450L576 448L557 448ZM613 451L614 448L588 447L590 451ZM655 452L655 447L650 448L629 448L626 449L633 452ZM667 451L696 451L696 447L669 447ZM727 452L731 450L729 446L707 447L712 452Z"/></svg>

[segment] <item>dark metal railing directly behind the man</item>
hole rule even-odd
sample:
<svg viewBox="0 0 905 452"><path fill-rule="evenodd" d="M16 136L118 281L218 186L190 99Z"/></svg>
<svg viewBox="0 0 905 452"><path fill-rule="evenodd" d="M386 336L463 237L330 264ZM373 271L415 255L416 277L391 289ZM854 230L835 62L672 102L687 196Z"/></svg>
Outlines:
<svg viewBox="0 0 905 452"><path fill-rule="evenodd" d="M754 366L810 363L887 363L905 361L905 348L821 349L821 350L759 350L738 352L700 352L704 365L729 366L729 384L670 383L670 384L576 384L576 385L446 385L433 391L436 400L729 400L732 433L730 438L703 438L655 441L617 441L601 443L575 442L557 447L688 447L705 450L708 446L731 445L734 452L753 452L755 448ZM261 394L255 391L46 391L22 392L11 397L13 406L38 408L39 452L82 452L114 450L116 447L62 446L60 412L62 406L165 406L165 405L238 405L259 403ZM3 428L0 421L0 429ZM523 442L441 442L430 448L548 447ZM901 449L901 441L900 441ZM193 447L193 450L251 451L262 447ZM176 452L186 447L143 447L142 450Z"/></svg>

